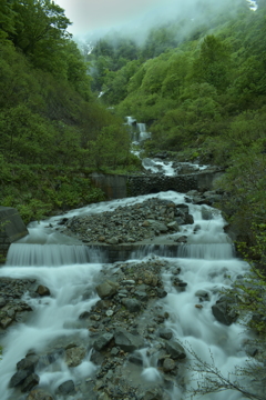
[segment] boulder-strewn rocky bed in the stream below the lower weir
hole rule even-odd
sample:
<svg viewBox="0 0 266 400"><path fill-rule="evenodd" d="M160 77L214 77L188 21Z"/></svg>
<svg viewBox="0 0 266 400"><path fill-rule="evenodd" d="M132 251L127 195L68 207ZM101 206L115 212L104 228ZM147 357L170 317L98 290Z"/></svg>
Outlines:
<svg viewBox="0 0 266 400"><path fill-rule="evenodd" d="M176 259L171 261L151 256L140 262L103 266L93 289L99 301L76 314L72 327L88 329L89 338L62 337L52 341L44 352L32 349L17 363L17 372L10 380L10 387L14 388L10 400L170 400L174 388L184 390L187 351L173 331L165 328L166 321L174 322L173 316L164 311L167 297L163 280L165 273L171 277L171 286L177 292L186 290L187 283L180 279L181 267ZM40 283L1 279L1 288L7 288L1 293L2 299L10 307L13 301L11 291L19 303L19 298L25 293L28 298L47 297L49 301L50 290ZM92 288L88 287L83 299L91 296ZM197 291L194 304L197 312L208 301L207 291ZM7 303L2 301L1 304L1 312L6 311ZM24 307L30 310L27 303ZM236 318L225 298L213 307L213 313L224 324L231 324ZM62 362L74 371L88 356L90 371L93 370L89 378L65 380L55 392L39 387L43 371L54 372Z"/></svg>

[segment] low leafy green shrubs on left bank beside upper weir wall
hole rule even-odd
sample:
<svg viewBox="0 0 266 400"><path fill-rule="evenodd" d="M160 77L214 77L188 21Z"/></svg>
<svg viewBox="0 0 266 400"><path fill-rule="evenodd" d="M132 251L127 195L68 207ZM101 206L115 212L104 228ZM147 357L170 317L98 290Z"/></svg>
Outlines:
<svg viewBox="0 0 266 400"><path fill-rule="evenodd" d="M1 158L0 158L1 162ZM0 203L17 208L25 223L54 210L66 210L104 200L90 178L79 169L40 164L4 164L0 170Z"/></svg>

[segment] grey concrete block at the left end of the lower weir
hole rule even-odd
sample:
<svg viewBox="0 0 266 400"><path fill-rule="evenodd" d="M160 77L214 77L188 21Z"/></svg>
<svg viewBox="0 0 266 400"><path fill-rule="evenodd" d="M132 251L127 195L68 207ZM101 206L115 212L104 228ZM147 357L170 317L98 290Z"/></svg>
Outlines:
<svg viewBox="0 0 266 400"><path fill-rule="evenodd" d="M27 236L28 229L17 209L0 206L0 262L12 242Z"/></svg>

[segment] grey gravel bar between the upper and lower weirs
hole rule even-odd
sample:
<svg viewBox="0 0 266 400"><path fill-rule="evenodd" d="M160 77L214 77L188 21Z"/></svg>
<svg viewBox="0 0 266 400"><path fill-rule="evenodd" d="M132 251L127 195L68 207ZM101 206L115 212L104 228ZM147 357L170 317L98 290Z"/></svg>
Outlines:
<svg viewBox="0 0 266 400"><path fill-rule="evenodd" d="M221 201L221 191L204 193L192 190L187 193L186 202L208 204ZM212 219L208 208L203 208L206 219ZM151 198L142 203L117 207L114 211L100 214L73 217L62 219L64 234L75 236L84 243L96 244L124 244L147 243L156 238L177 233L180 226L194 223L193 216L188 212L188 204L175 204L173 201ZM186 238L176 234L171 238L185 242Z"/></svg>

